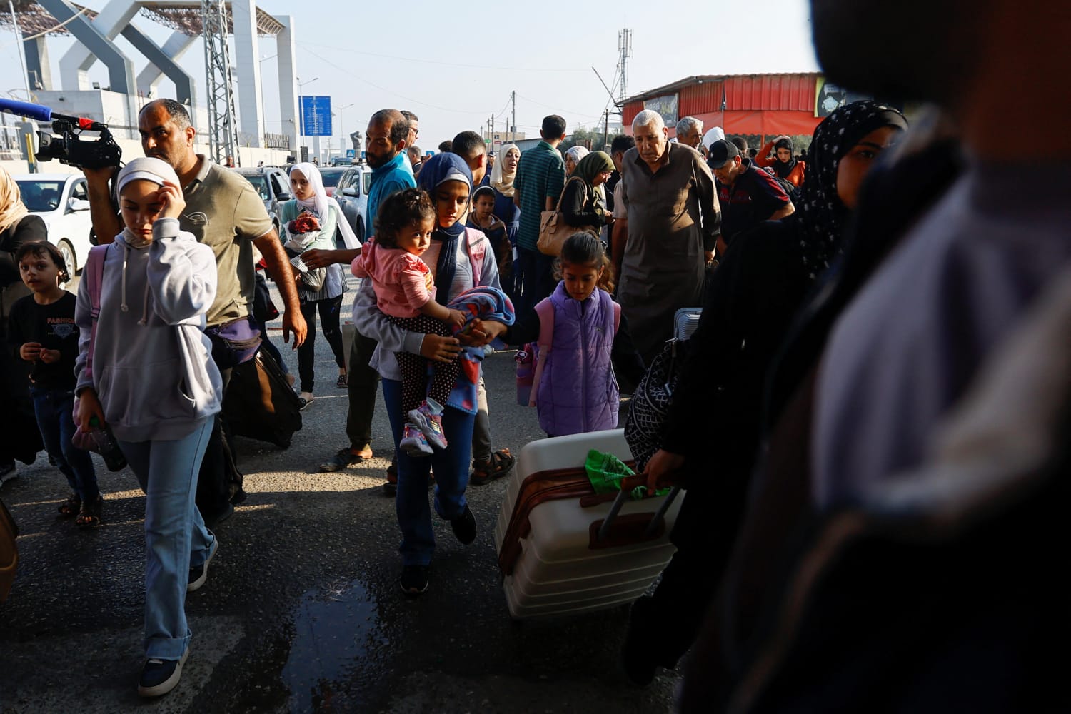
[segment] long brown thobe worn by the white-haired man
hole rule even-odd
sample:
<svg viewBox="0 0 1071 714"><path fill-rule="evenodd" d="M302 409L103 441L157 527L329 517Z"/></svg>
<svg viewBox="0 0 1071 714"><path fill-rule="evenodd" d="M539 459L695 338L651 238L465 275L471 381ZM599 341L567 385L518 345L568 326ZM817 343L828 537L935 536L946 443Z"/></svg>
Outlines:
<svg viewBox="0 0 1071 714"><path fill-rule="evenodd" d="M674 313L702 304L704 252L714 249L721 225L703 156L679 143L667 143L666 152L653 173L636 149L621 162L629 241L617 300L648 364L673 336Z"/></svg>

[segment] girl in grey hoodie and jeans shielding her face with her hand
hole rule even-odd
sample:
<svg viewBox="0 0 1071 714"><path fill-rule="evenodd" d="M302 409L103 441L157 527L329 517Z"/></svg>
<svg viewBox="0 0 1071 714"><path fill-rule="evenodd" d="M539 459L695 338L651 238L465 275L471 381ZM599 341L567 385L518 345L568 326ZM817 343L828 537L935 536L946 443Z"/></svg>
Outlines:
<svg viewBox="0 0 1071 714"><path fill-rule="evenodd" d="M155 697L182 674L191 636L185 595L203 584L218 546L194 505L223 398L202 332L217 274L212 249L179 228L185 201L170 166L135 158L116 183L126 227L115 243L94 248L105 252L99 305L90 280L78 288L76 394L81 428L89 430L92 416L110 427L146 493L147 662L138 694Z"/></svg>

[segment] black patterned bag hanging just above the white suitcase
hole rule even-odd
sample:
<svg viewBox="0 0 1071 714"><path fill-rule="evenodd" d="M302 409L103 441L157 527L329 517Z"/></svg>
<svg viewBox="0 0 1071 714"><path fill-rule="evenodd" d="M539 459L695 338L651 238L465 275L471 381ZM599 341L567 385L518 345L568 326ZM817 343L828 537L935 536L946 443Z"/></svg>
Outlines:
<svg viewBox="0 0 1071 714"><path fill-rule="evenodd" d="M636 472L662 449L662 427L673 405L680 366L688 356L689 340L699 323L698 307L684 307L674 315L674 336L651 361L632 394L624 421L624 440L636 459Z"/></svg>

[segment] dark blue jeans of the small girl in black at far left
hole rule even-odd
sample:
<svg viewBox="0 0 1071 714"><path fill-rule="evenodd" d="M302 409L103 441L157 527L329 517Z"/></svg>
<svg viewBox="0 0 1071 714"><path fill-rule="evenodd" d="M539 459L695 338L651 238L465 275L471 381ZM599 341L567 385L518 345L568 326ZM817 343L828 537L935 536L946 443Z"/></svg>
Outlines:
<svg viewBox="0 0 1071 714"><path fill-rule="evenodd" d="M37 428L45 450L66 476L71 490L82 502L95 501L101 491L96 487L96 471L89 452L71 443L74 437L74 391L49 390L31 386L33 413L37 417Z"/></svg>

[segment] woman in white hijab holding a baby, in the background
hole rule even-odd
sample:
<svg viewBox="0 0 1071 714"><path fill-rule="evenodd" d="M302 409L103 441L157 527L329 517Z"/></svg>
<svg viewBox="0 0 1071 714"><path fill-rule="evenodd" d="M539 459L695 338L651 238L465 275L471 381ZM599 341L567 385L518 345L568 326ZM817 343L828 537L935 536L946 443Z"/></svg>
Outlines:
<svg viewBox="0 0 1071 714"><path fill-rule="evenodd" d="M347 248L358 247L360 241L349 227L349 222L343 218L338 202L329 197L323 189L323 179L315 165L307 162L295 164L290 168L290 187L295 197L280 204L278 214L284 229L283 245L295 265L298 295L301 298L301 314L305 322L314 325L316 312L319 310L323 336L331 345L335 364L338 366L338 379L335 385L338 389L346 389L346 361L342 347L342 329L338 325L342 293L346 290L346 280L342 268L337 264L316 271L308 270L301 261L301 254L312 249L333 250L336 247L336 231L342 233ZM298 376L301 378L299 396L302 408L314 398L315 355L316 330L313 329L308 331L308 338L298 348Z"/></svg>

